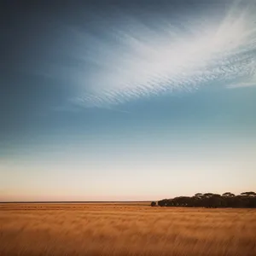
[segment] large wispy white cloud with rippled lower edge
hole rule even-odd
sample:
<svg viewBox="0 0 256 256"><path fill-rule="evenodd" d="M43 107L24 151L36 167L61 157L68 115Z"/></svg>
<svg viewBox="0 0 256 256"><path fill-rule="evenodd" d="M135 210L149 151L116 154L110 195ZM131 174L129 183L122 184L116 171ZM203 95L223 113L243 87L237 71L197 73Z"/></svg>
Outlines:
<svg viewBox="0 0 256 256"><path fill-rule="evenodd" d="M73 102L106 107L198 90L213 81L229 88L238 87L236 79L240 86L253 84L247 80L256 73L255 10L255 3L235 3L222 20L188 17L176 26L172 20L155 20L157 27L126 16L105 32L105 41L84 33L90 47L79 58L95 68L84 76L86 86Z"/></svg>

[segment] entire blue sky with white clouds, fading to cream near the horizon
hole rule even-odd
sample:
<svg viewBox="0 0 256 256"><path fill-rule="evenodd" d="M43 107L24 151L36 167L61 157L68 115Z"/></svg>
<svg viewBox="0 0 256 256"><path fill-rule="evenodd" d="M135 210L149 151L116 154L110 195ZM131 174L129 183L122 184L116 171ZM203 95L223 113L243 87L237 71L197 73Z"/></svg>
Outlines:
<svg viewBox="0 0 256 256"><path fill-rule="evenodd" d="M0 5L0 201L256 190L256 1Z"/></svg>

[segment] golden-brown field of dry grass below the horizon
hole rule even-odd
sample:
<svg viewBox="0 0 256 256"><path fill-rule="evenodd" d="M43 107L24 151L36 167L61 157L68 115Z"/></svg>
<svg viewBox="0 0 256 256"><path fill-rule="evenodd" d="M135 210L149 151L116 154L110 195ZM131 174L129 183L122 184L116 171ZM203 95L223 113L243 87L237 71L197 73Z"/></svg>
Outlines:
<svg viewBox="0 0 256 256"><path fill-rule="evenodd" d="M0 204L0 255L255 256L256 210Z"/></svg>

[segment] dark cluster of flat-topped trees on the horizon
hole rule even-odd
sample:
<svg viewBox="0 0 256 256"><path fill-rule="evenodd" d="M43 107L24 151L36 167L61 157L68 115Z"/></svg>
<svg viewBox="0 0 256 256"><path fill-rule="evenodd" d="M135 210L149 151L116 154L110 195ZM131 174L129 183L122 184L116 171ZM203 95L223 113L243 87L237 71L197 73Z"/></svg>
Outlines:
<svg viewBox="0 0 256 256"><path fill-rule="evenodd" d="M256 193L243 192L234 195L226 192L223 195L197 193L193 196L177 196L173 199L158 201L160 207L232 207L232 208L256 208Z"/></svg>

